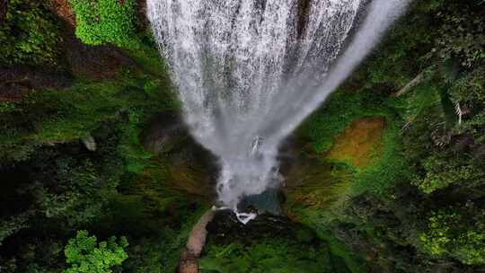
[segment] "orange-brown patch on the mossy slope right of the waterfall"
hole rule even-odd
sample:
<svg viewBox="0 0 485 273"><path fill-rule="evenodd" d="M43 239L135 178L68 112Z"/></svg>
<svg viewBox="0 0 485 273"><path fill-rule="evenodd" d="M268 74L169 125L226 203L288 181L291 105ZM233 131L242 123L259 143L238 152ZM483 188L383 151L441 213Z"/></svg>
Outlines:
<svg viewBox="0 0 485 273"><path fill-rule="evenodd" d="M325 158L365 168L375 161L382 148L382 137L386 126L383 117L358 119L348 126L339 136Z"/></svg>

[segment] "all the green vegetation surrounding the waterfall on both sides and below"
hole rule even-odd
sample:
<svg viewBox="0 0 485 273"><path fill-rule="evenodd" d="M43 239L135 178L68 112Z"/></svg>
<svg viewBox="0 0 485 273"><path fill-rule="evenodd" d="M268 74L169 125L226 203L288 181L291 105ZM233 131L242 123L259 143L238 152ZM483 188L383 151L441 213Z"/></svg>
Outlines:
<svg viewBox="0 0 485 273"><path fill-rule="evenodd" d="M4 2L0 272L173 272L211 166L184 133L150 137L179 105L141 1ZM480 0L414 1L295 133L284 212L301 226L209 240L204 272L485 269L483 18ZM341 147L363 119L384 128L356 161Z"/></svg>

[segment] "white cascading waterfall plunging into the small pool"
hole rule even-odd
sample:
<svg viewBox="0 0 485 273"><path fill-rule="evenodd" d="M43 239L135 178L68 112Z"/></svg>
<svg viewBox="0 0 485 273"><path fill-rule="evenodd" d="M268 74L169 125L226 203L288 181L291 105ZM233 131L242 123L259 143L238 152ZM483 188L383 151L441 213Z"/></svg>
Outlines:
<svg viewBox="0 0 485 273"><path fill-rule="evenodd" d="M410 0L368 2L147 0L185 121L220 159L219 206L235 210L243 197L278 185L278 145ZM364 5L366 19L357 27Z"/></svg>

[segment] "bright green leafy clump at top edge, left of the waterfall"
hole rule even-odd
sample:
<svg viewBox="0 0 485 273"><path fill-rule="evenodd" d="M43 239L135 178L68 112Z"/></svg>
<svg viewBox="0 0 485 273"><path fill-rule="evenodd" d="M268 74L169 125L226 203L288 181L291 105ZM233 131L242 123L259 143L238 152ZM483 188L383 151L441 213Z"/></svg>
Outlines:
<svg viewBox="0 0 485 273"><path fill-rule="evenodd" d="M75 11L75 35L84 43L111 43L121 48L137 48L134 0L70 0Z"/></svg>

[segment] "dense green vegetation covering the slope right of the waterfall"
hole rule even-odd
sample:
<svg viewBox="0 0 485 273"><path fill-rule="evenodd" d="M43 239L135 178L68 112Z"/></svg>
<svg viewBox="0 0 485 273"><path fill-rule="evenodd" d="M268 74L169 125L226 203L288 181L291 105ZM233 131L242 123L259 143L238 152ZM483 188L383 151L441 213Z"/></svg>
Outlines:
<svg viewBox="0 0 485 273"><path fill-rule="evenodd" d="M357 92L356 101L335 94L303 128L315 153L356 116L383 115L383 107L387 130L397 129L384 139L385 161L370 167L378 190L351 194L331 224L304 220L377 255L378 268L474 272L484 264L484 14L480 1L414 3L341 88ZM358 99L366 92L378 99ZM361 174L354 183L363 183Z"/></svg>

